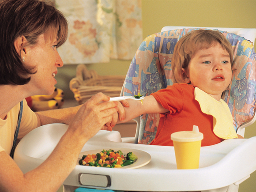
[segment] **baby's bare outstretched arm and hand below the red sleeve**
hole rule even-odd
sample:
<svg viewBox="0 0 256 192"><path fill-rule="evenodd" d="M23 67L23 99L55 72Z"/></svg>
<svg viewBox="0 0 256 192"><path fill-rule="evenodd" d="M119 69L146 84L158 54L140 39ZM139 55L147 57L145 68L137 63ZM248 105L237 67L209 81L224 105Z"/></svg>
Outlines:
<svg viewBox="0 0 256 192"><path fill-rule="evenodd" d="M144 113L166 113L169 110L163 108L163 106L156 101L154 96L146 96L142 101L128 99L129 107L124 107L125 118L123 121L120 121L118 118L117 124L125 123L129 120L134 119Z"/></svg>

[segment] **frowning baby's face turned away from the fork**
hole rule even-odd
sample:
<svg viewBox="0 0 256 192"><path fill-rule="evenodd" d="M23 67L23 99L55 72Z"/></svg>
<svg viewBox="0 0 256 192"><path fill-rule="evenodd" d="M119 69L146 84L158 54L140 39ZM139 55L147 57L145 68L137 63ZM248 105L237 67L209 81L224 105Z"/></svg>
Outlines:
<svg viewBox="0 0 256 192"><path fill-rule="evenodd" d="M232 78L230 55L219 43L201 49L192 56L186 74L194 87L219 100Z"/></svg>

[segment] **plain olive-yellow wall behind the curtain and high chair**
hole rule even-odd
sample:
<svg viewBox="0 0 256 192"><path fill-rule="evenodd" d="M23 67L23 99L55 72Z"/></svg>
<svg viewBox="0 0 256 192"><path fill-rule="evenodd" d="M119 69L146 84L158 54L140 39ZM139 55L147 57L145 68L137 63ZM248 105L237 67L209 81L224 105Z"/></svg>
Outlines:
<svg viewBox="0 0 256 192"><path fill-rule="evenodd" d="M143 38L168 25L256 28L256 0L142 0L142 11ZM125 75L130 62L111 60L107 64L88 64L87 68L99 75ZM64 90L66 98L73 98L69 81L75 77L75 68L65 65L56 75L56 86ZM246 129L245 137L252 136L256 136L256 123ZM239 192L256 192L253 182L256 172L240 185Z"/></svg>

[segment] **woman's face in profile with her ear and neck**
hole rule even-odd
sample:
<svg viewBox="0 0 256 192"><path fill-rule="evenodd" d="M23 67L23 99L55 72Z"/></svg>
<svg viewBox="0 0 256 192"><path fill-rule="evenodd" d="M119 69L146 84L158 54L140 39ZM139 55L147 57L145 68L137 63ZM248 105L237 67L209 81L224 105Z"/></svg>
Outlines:
<svg viewBox="0 0 256 192"><path fill-rule="evenodd" d="M37 68L37 72L30 76L29 86L32 95L49 95L54 91L54 86L57 83L54 78L58 72L57 68L63 66L56 45L56 38L51 40L49 35L41 34L36 45L25 49L26 66Z"/></svg>

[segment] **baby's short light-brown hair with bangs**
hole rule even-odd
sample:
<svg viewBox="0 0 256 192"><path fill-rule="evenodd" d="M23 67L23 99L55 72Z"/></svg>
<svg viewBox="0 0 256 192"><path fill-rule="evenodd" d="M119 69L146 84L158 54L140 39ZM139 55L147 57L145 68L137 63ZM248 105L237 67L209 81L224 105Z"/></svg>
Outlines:
<svg viewBox="0 0 256 192"><path fill-rule="evenodd" d="M230 55L233 64L233 49L230 42L217 30L193 30L184 35L174 47L172 58L173 83L184 83L183 69L188 67L192 56L202 49L219 43Z"/></svg>

